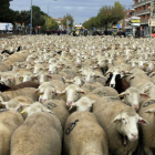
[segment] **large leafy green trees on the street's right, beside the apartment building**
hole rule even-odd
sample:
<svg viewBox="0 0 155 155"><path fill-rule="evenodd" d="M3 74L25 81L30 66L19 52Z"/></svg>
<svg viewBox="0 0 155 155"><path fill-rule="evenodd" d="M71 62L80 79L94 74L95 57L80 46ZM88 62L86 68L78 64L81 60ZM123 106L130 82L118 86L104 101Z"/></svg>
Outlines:
<svg viewBox="0 0 155 155"><path fill-rule="evenodd" d="M125 8L118 2L115 1L114 6L104 6L99 10L96 17L92 17L89 21L83 23L89 30L92 30L94 27L96 28L111 28L112 24L116 24L120 20L122 20L125 16Z"/></svg>

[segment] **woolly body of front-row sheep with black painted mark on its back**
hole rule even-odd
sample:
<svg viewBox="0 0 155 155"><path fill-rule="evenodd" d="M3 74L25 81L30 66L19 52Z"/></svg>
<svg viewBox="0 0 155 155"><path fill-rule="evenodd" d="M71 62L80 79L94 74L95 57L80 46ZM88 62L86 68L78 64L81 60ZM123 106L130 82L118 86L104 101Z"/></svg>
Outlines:
<svg viewBox="0 0 155 155"><path fill-rule="evenodd" d="M90 112L74 112L65 123L63 154L108 155L106 135Z"/></svg>

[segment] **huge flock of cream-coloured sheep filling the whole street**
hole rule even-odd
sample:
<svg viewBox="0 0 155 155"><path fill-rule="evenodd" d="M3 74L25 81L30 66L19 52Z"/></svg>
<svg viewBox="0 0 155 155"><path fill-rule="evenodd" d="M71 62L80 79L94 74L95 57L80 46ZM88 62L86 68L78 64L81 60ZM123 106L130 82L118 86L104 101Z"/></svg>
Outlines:
<svg viewBox="0 0 155 155"><path fill-rule="evenodd" d="M0 155L153 155L153 39L0 40Z"/></svg>

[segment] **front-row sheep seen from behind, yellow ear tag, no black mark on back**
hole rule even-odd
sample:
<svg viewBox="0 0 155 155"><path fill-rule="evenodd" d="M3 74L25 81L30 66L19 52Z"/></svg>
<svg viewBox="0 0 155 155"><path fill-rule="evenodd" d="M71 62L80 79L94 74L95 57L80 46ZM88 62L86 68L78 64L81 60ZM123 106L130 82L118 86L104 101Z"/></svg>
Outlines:
<svg viewBox="0 0 155 155"><path fill-rule="evenodd" d="M22 113L27 113L28 117L12 135L10 154L61 155L62 127L59 118L38 102Z"/></svg>

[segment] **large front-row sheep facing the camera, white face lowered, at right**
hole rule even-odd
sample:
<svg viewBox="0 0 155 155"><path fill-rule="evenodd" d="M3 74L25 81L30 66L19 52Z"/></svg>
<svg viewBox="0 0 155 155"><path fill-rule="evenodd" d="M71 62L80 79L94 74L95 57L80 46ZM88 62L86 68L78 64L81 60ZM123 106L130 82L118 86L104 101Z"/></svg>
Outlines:
<svg viewBox="0 0 155 155"><path fill-rule="evenodd" d="M132 155L138 144L137 123L147 122L138 116L133 107L110 96L96 101L93 104L93 113L105 130L110 153Z"/></svg>

